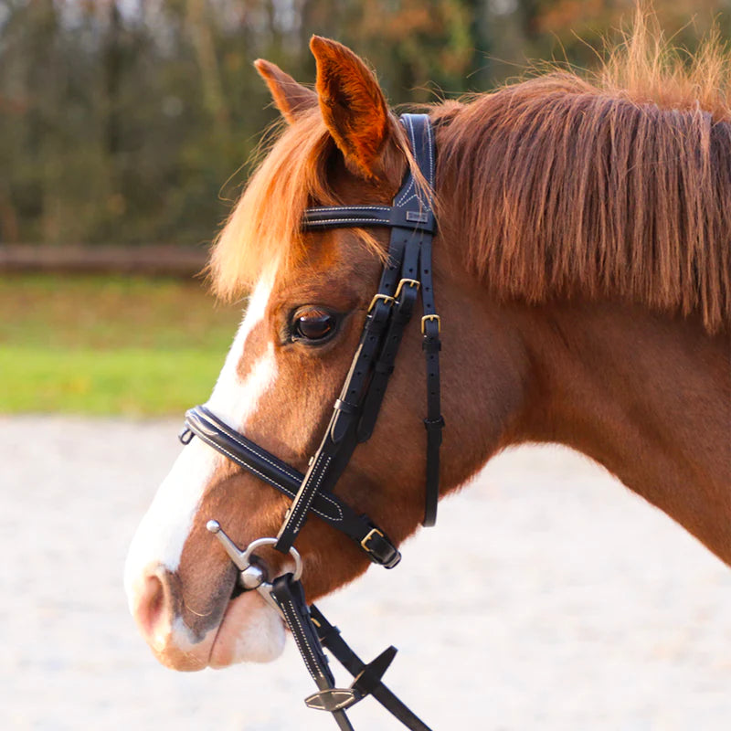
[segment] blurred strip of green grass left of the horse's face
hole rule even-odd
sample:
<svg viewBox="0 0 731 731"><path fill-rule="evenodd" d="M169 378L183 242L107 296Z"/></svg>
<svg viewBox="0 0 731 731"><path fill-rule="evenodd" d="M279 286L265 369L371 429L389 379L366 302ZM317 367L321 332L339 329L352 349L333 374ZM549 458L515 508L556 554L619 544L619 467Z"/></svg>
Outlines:
<svg viewBox="0 0 731 731"><path fill-rule="evenodd" d="M0 281L0 413L180 414L210 393L240 309L181 281Z"/></svg>

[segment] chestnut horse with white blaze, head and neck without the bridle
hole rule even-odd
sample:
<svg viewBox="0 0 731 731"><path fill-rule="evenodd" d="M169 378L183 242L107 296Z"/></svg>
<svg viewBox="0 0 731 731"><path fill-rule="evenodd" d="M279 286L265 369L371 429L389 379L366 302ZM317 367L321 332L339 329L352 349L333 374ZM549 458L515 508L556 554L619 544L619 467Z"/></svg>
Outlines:
<svg viewBox="0 0 731 731"><path fill-rule="evenodd" d="M311 48L315 90L256 64L286 124L210 264L218 294L251 295L207 407L300 471L387 248L376 228L303 231L303 211L388 206L413 163L364 62L321 37ZM591 83L555 72L429 107L442 495L508 445L558 442L731 564L731 107L723 64L704 58L665 73L630 53ZM420 337L410 323L373 437L335 491L396 543L423 514ZM125 573L161 662L197 670L281 652L280 616L257 592L235 596L236 570L206 524L247 546L276 535L289 503L201 440L185 447ZM316 516L297 548L311 600L369 566ZM261 557L270 576L283 569L280 554Z"/></svg>

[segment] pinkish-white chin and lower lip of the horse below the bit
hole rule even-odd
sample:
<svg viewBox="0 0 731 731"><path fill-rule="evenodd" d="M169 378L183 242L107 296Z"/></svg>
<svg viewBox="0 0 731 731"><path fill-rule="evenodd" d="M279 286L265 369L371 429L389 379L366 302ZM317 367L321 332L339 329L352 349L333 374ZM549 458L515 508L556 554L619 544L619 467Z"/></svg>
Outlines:
<svg viewBox="0 0 731 731"><path fill-rule="evenodd" d="M271 662L284 650L284 623L256 591L232 599L211 646L207 664L224 668L236 662Z"/></svg>

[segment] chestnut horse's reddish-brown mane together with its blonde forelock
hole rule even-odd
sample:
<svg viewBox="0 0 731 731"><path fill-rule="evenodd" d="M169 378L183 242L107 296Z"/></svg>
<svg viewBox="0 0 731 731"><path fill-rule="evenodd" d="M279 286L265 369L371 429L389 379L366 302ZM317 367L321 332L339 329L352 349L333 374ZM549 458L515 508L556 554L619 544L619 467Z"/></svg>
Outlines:
<svg viewBox="0 0 731 731"><path fill-rule="evenodd" d="M433 105L443 239L502 299L619 298L729 329L729 79L713 38L683 56L639 15L590 76L553 68ZM219 295L301 257L304 208L341 203L333 150L316 108L284 128L217 238Z"/></svg>

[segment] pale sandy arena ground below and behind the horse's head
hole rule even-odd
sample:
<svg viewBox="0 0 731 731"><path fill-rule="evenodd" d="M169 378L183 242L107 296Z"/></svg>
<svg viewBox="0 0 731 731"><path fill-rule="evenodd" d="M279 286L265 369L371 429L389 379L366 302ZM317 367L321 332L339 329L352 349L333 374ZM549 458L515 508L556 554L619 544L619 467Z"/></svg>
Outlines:
<svg viewBox="0 0 731 731"><path fill-rule="evenodd" d="M173 673L122 591L177 421L0 418L0 728L330 729L289 644L266 666ZM437 528L320 603L435 729L726 731L731 570L566 450L494 460ZM344 675L340 675L344 678ZM372 700L357 729L397 729Z"/></svg>

